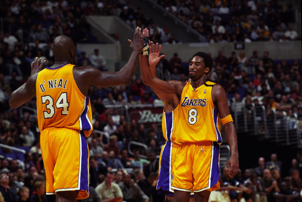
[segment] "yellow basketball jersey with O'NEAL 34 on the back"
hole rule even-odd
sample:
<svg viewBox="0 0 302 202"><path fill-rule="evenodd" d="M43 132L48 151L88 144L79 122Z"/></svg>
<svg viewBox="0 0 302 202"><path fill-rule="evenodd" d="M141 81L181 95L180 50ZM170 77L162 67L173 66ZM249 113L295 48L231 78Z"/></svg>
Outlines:
<svg viewBox="0 0 302 202"><path fill-rule="evenodd" d="M89 96L84 96L73 78L74 65L65 64L40 71L36 81L39 130L47 127L92 132Z"/></svg>

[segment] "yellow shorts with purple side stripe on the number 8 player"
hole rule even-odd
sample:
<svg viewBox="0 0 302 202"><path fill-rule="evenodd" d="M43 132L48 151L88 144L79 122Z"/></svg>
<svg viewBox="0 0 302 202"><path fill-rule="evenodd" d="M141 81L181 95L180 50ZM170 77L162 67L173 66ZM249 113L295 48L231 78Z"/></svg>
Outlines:
<svg viewBox="0 0 302 202"><path fill-rule="evenodd" d="M218 189L219 158L216 142L182 143L173 165L171 188L187 192Z"/></svg>

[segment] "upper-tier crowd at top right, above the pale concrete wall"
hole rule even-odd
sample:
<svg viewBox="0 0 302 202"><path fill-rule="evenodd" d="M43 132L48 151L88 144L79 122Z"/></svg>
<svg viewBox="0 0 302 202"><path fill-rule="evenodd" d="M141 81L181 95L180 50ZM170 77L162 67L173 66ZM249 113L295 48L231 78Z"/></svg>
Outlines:
<svg viewBox="0 0 302 202"><path fill-rule="evenodd" d="M288 41L299 38L292 4L278 1L172 1L156 2L190 25L209 42Z"/></svg>

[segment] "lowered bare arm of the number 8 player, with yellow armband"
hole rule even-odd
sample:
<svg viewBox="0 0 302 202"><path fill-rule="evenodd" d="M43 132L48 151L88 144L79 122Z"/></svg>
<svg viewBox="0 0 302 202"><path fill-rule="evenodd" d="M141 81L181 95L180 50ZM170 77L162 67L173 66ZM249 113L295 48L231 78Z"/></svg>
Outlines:
<svg viewBox="0 0 302 202"><path fill-rule="evenodd" d="M214 85L212 89L213 103L216 103L220 118L224 118L230 115L230 109L227 105L226 91L221 85ZM238 172L239 161L238 161L238 143L237 133L233 121L227 122L223 125L226 132L226 140L231 149L231 157L227 162L227 168L231 169L230 177L234 177Z"/></svg>

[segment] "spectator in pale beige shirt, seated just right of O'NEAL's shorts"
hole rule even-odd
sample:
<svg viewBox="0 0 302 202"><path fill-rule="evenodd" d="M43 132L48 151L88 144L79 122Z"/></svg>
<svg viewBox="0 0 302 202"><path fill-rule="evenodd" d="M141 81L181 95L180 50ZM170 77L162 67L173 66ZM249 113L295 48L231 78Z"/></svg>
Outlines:
<svg viewBox="0 0 302 202"><path fill-rule="evenodd" d="M100 197L101 201L111 201L113 199L115 199L117 202L122 201L123 193L119 185L112 183L114 177L113 173L107 172L105 176L104 182L95 188L95 191Z"/></svg>

